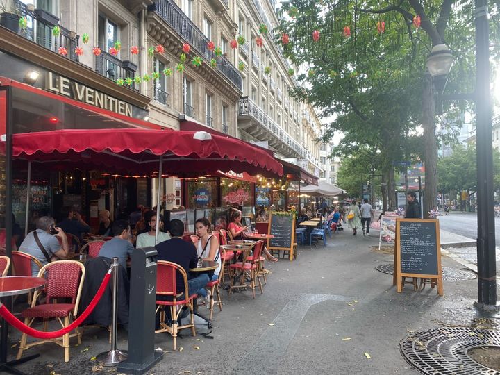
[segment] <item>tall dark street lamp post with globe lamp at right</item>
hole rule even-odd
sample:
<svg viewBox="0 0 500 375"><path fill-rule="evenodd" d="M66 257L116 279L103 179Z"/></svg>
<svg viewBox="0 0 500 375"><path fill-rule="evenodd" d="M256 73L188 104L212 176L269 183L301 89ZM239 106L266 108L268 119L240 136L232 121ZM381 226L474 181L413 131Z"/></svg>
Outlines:
<svg viewBox="0 0 500 375"><path fill-rule="evenodd" d="M493 148L491 131L490 35L486 0L475 0L476 89L474 94L456 94L440 99L471 99L476 102L478 301L475 306L499 310L493 204ZM439 94L444 90L453 56L445 44L433 47L427 68ZM433 199L430 197L430 199Z"/></svg>

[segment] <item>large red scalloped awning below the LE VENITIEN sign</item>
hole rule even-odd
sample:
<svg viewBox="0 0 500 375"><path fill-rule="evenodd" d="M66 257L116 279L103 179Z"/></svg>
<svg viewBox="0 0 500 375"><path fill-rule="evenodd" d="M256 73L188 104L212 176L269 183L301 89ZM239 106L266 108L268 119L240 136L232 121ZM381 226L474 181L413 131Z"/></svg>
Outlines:
<svg viewBox="0 0 500 375"><path fill-rule="evenodd" d="M12 156L140 175L157 171L159 156L163 156L163 169L169 176L199 176L217 170L283 175L283 165L259 147L194 131L65 129L22 133L13 135Z"/></svg>

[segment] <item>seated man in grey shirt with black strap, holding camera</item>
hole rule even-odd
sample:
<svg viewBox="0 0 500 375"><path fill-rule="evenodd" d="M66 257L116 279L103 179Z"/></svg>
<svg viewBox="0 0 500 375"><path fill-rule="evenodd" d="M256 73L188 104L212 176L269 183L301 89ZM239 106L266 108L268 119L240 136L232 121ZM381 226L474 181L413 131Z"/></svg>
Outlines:
<svg viewBox="0 0 500 375"><path fill-rule="evenodd" d="M54 260L65 259L69 251L66 233L55 226L52 217L42 216L36 222L35 231L28 233L24 238L19 251L34 256L40 260L42 266ZM38 271L40 271L38 266L33 264L31 276L38 276Z"/></svg>

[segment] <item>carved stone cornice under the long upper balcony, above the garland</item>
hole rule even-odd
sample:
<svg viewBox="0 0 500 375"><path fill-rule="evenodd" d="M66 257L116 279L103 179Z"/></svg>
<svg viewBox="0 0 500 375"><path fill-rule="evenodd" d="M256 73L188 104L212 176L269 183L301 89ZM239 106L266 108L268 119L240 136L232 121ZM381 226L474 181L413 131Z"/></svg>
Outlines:
<svg viewBox="0 0 500 375"><path fill-rule="evenodd" d="M174 56L181 56L182 44L185 41L181 40L176 31L154 12L148 12L147 14L147 33L158 43L163 44L165 49ZM208 62L206 58L201 54L199 56L203 59L203 64L201 67L192 67L194 72L197 72L197 74L203 77L210 85L224 92L232 101L240 99L240 90L235 88L224 74L220 74L217 69L211 67L210 62Z"/></svg>

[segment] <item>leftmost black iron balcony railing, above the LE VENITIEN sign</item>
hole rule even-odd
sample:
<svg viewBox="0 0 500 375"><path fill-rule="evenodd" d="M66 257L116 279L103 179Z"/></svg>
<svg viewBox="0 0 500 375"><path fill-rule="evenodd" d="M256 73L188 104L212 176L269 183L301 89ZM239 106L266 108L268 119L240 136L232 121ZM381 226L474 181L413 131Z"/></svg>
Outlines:
<svg viewBox="0 0 500 375"><path fill-rule="evenodd" d="M43 14L38 12L38 10L30 11L26 8L24 3L17 1L16 6L19 10L19 15L21 17L26 17L28 21L26 28L19 31L19 35L58 54L60 54L60 47L63 47L67 51L65 57L78 63L78 55L75 53L75 48L78 47L79 37L76 33L69 31L59 24L53 24L48 20L48 17L44 17L44 14L58 22L59 19L56 16L50 15L49 13ZM60 34L57 37L52 33L56 25L60 29Z"/></svg>

